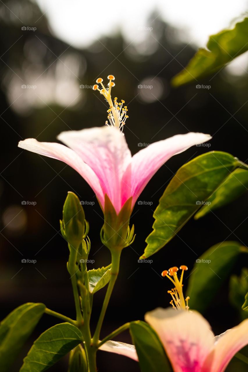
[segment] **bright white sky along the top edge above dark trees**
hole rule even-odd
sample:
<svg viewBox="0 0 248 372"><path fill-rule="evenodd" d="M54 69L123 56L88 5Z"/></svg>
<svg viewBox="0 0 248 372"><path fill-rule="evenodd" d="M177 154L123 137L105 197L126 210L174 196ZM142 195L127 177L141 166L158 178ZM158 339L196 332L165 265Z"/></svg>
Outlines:
<svg viewBox="0 0 248 372"><path fill-rule="evenodd" d="M101 35L121 29L128 42L136 42L146 27L150 13L157 10L163 19L183 29L185 39L204 46L208 36L230 25L248 8L247 0L36 0L46 12L51 30L75 47L85 47Z"/></svg>

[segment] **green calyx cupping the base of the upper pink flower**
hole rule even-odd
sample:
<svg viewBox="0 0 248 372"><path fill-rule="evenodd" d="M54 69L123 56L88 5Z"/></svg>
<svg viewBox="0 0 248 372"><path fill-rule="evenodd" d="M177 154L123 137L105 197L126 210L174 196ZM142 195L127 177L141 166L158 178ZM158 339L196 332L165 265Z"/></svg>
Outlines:
<svg viewBox="0 0 248 372"><path fill-rule="evenodd" d="M131 230L129 227L131 204L132 197L125 202L117 215L111 200L105 194L104 225L101 230L101 240L109 250L122 250L134 240L134 227Z"/></svg>

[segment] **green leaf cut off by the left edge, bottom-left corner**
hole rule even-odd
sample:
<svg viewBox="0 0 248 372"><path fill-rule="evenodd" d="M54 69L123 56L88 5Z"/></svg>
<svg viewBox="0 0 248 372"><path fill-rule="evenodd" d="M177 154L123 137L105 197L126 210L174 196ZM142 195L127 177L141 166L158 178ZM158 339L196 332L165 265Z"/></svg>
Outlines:
<svg viewBox="0 0 248 372"><path fill-rule="evenodd" d="M44 304L23 304L13 310L0 324L1 372L9 371L20 349L45 311Z"/></svg>

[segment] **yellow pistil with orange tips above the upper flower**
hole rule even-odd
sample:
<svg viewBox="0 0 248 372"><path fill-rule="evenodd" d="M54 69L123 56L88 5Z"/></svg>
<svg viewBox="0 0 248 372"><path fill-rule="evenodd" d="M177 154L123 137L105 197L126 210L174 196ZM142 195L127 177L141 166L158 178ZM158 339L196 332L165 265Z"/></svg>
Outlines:
<svg viewBox="0 0 248 372"><path fill-rule="evenodd" d="M93 90L98 90L109 104L109 109L107 110L108 120L106 120L105 124L118 128L122 132L125 121L128 118L128 109L127 106L123 106L125 103L123 99L121 100L121 102L118 102L117 97L115 97L113 103L111 98L111 89L115 86L114 75L109 75L108 80L108 87L105 87L103 84L103 79L99 77L98 79L96 79L96 84L93 85ZM101 89L99 88L99 84L101 85Z"/></svg>

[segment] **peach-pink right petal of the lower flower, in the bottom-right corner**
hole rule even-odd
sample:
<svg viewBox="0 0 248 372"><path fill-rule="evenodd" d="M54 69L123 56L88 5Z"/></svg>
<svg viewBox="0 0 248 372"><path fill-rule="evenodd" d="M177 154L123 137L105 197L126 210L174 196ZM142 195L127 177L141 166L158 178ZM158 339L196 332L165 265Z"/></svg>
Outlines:
<svg viewBox="0 0 248 372"><path fill-rule="evenodd" d="M248 319L221 334L203 365L202 372L223 372L232 357L248 344Z"/></svg>

